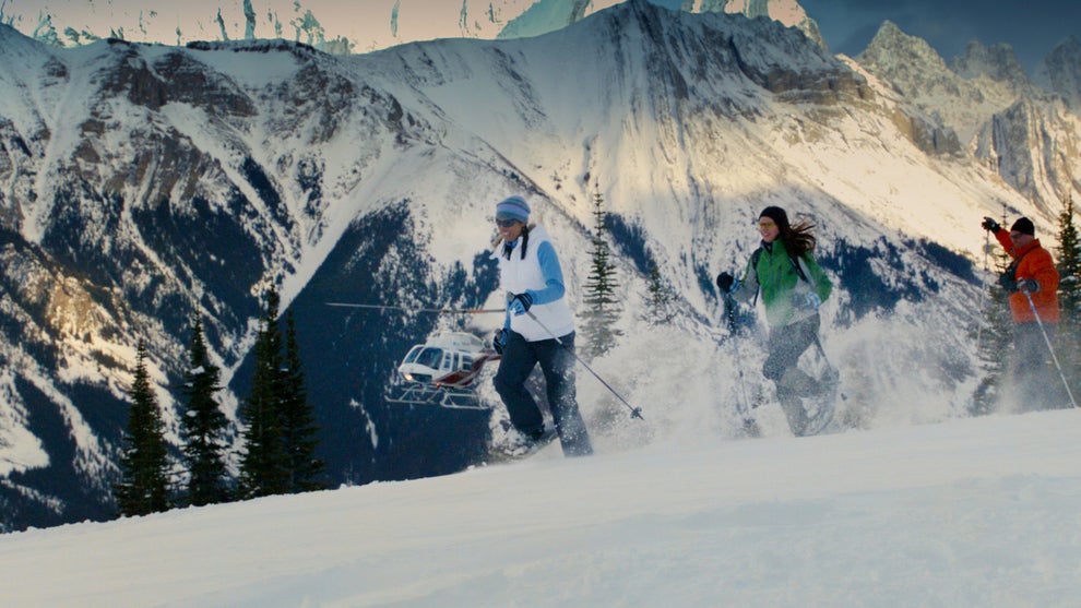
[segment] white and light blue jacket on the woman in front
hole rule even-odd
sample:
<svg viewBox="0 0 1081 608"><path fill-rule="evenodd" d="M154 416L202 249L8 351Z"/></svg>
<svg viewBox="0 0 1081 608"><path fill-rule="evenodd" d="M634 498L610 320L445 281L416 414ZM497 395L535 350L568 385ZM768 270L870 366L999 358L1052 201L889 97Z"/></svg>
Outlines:
<svg viewBox="0 0 1081 608"><path fill-rule="evenodd" d="M526 241L524 259L522 241ZM508 245L511 247L509 257L506 254ZM491 257L499 262L500 287L508 296L524 293L533 296L530 312L539 321L537 323L528 314L513 314L508 309L506 327L527 342L563 337L574 331L574 318L563 298L563 271L544 227L531 226L527 236L512 243L497 242Z"/></svg>

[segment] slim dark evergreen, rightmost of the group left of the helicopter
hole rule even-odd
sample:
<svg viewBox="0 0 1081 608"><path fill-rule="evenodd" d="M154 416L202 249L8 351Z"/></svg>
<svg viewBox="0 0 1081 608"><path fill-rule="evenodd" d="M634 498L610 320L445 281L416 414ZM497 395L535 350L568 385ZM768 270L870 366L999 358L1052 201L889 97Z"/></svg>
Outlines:
<svg viewBox="0 0 1081 608"><path fill-rule="evenodd" d="M289 488L294 492L317 490L322 487L318 477L323 462L316 457L314 412L308 403L308 390L304 383L300 365L300 347L297 344L296 323L290 309L285 315L285 397L282 402L283 441L288 455Z"/></svg>

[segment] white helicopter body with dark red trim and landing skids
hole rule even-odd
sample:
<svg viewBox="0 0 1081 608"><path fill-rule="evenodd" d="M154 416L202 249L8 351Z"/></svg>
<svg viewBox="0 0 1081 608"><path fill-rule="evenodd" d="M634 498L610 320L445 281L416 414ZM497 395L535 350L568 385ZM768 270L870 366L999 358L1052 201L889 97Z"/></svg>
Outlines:
<svg viewBox="0 0 1081 608"><path fill-rule="evenodd" d="M409 349L397 373L401 391L389 403L438 405L452 409L491 409L480 403L474 383L488 361L501 356L465 332L438 334Z"/></svg>

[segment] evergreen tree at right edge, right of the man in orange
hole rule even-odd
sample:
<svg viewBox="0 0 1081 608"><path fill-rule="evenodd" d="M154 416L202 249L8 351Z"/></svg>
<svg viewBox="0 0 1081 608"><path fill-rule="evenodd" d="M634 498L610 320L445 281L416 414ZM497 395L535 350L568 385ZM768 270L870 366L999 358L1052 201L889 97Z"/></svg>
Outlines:
<svg viewBox="0 0 1081 608"><path fill-rule="evenodd" d="M1073 225L1073 199L1067 199L1058 216L1058 305L1061 320L1056 353L1074 395L1081 394L1081 243Z"/></svg>

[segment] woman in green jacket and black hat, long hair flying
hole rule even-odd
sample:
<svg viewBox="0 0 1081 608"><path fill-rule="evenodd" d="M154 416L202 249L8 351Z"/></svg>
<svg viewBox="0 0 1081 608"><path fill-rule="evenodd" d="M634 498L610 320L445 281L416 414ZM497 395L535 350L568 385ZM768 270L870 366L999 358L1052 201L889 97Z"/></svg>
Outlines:
<svg viewBox="0 0 1081 608"><path fill-rule="evenodd" d="M743 277L717 275L717 287L725 297L750 302L762 295L770 325L769 357L762 374L776 385L777 401L784 408L792 432L799 436L807 426L807 410L800 396L811 396L824 388L796 367L799 356L818 339L821 320L818 308L833 290L811 252L813 225L788 224L788 215L777 206L762 210L758 230L762 245L751 254Z"/></svg>

